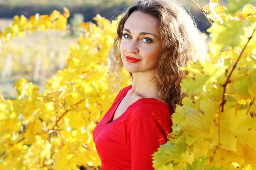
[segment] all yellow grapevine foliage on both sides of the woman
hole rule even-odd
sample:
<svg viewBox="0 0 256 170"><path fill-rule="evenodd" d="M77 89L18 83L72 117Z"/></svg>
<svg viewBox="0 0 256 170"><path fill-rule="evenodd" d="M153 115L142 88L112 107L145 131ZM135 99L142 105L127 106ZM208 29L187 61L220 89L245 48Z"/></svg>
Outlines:
<svg viewBox="0 0 256 170"><path fill-rule="evenodd" d="M209 58L181 68L187 93L172 114L173 132L153 154L156 170L256 169L256 8L252 0L218 0L201 8L212 26ZM197 2L195 2L197 3ZM0 36L66 29L69 11L15 16ZM98 169L92 139L116 93L108 90L117 22L99 14L81 23L85 34L70 48L67 67L39 88L18 79L17 99L0 98L0 169ZM125 70L123 88L131 83ZM193 97L192 97L193 96Z"/></svg>

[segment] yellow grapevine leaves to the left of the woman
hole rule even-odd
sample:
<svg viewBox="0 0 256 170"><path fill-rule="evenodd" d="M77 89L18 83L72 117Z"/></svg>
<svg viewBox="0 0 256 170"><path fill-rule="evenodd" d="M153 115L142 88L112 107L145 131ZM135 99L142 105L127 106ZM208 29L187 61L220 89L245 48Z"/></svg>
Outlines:
<svg viewBox="0 0 256 170"><path fill-rule="evenodd" d="M68 16L65 8L63 14L36 14L29 21L16 16L3 38L26 30L64 30ZM85 33L70 48L67 67L47 81L44 94L20 78L14 84L16 99L0 98L0 170L71 170L82 165L93 170L101 165L92 132L116 96L109 91L108 76L117 21L99 14L93 19L97 25L80 23ZM130 84L127 76L122 75L119 90Z"/></svg>

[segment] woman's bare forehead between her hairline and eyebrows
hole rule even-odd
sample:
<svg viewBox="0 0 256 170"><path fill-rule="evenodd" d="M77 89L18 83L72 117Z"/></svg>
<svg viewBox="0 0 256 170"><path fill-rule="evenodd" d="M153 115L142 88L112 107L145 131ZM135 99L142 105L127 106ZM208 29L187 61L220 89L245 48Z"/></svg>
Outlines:
<svg viewBox="0 0 256 170"><path fill-rule="evenodd" d="M159 26L155 17L140 11L134 11L125 21L124 28L131 30L132 34L150 32L156 35Z"/></svg>

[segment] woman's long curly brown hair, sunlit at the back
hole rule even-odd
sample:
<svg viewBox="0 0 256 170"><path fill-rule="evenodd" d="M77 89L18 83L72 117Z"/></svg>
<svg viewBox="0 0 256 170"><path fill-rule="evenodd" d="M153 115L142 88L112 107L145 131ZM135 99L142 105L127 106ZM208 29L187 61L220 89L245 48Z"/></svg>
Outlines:
<svg viewBox="0 0 256 170"><path fill-rule="evenodd" d="M120 79L119 75L123 68L120 42L125 21L134 11L157 18L161 49L156 68L157 85L160 88L161 99L165 99L173 111L177 104L181 105L182 99L186 96L181 93L180 82L188 71L182 71L180 67L186 66L189 60L201 60L207 56L207 43L201 38L195 20L186 9L186 6L177 0L138 0L122 14L113 45L111 73L116 79ZM129 75L132 79L132 73Z"/></svg>

